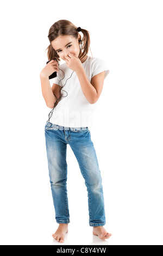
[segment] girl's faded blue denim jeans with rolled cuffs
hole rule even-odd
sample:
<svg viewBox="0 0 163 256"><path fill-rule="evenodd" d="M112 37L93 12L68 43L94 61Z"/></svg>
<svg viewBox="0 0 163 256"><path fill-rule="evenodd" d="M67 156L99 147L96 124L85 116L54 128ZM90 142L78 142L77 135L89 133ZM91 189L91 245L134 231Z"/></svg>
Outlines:
<svg viewBox="0 0 163 256"><path fill-rule="evenodd" d="M49 178L57 223L70 223L67 198L67 144L70 145L85 179L89 225L105 225L102 177L88 127L65 127L46 122L46 150Z"/></svg>

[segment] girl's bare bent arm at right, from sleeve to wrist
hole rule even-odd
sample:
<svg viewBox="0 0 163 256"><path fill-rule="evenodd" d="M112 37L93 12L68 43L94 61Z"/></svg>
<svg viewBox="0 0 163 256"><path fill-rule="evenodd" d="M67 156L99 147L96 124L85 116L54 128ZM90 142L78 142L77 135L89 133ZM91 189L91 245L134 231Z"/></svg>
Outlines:
<svg viewBox="0 0 163 256"><path fill-rule="evenodd" d="M91 83L89 82L83 67L76 73L86 99L90 104L96 103L102 93L105 71L93 76Z"/></svg>

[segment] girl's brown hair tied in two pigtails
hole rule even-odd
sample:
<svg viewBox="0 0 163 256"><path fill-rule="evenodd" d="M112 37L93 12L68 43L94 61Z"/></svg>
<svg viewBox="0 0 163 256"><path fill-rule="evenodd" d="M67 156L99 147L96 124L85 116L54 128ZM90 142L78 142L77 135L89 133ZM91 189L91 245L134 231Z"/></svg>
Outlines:
<svg viewBox="0 0 163 256"><path fill-rule="evenodd" d="M71 21L68 20L59 20L55 22L51 28L49 29L48 39L50 43L58 38L59 35L70 35L74 38L78 39L78 31L76 26L73 25ZM86 29L81 28L81 32L83 33L83 39L82 39L82 45L83 45L83 52L80 51L79 53L79 59L82 61L82 59L87 56L87 53L89 52L90 48L90 35L89 31ZM54 50L52 45L50 44L47 48L47 57L48 60L56 59L58 62L60 61L58 53ZM90 49L91 51L91 49ZM91 52L92 54L92 52Z"/></svg>

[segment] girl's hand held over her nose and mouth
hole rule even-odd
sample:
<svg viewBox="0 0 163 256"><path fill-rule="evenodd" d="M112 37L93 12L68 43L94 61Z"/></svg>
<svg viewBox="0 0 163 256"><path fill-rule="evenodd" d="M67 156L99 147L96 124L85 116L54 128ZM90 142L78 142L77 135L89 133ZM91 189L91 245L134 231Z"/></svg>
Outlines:
<svg viewBox="0 0 163 256"><path fill-rule="evenodd" d="M73 53L69 53L66 57L66 66L76 72L83 68L81 60L74 56Z"/></svg>

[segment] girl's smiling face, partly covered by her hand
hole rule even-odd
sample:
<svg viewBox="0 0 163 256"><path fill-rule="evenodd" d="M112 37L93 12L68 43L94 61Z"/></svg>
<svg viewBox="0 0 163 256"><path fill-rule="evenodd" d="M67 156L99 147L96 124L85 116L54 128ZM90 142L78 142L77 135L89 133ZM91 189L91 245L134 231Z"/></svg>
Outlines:
<svg viewBox="0 0 163 256"><path fill-rule="evenodd" d="M62 60L66 61L66 57L69 53L73 53L78 58L80 53L80 45L78 40L81 39L80 37L81 36L79 35L78 39L76 39L69 35L59 35L58 38L51 42L51 45L54 50L57 51L57 54Z"/></svg>

